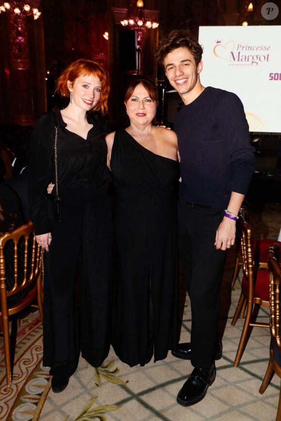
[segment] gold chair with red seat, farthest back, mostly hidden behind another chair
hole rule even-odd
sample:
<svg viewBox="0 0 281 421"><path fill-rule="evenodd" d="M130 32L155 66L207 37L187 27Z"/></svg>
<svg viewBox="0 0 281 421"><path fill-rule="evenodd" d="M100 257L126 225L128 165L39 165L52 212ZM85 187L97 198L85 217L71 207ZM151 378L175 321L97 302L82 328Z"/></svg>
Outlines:
<svg viewBox="0 0 281 421"><path fill-rule="evenodd" d="M242 214L243 219L249 222L249 212L246 206L242 206L241 210L239 212ZM253 261L254 266L259 269L267 269L267 250L273 243L277 243L281 246L280 241L276 240L270 240L270 239L258 239L258 240L252 240L252 246L253 246ZM235 282L237 280L239 269L242 266L242 250L241 246L237 249L236 259L235 259L235 265L234 265L234 272L233 277L231 281L231 290L233 290Z"/></svg>

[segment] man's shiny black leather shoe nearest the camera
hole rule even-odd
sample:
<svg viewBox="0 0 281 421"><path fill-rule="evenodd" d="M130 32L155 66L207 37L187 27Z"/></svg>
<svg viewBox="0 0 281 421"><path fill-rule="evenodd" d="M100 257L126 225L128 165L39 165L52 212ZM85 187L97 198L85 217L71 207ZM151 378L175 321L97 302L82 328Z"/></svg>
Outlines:
<svg viewBox="0 0 281 421"><path fill-rule="evenodd" d="M177 403L182 406L191 406L202 401L208 387L214 383L215 378L216 367L214 364L208 371L194 368L177 395Z"/></svg>

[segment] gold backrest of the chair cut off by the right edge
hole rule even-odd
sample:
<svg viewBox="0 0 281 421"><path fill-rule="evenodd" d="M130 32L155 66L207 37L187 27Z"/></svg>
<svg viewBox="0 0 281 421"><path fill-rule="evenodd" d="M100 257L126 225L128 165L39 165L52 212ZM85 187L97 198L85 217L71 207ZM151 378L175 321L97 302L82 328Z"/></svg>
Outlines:
<svg viewBox="0 0 281 421"><path fill-rule="evenodd" d="M280 327L280 292L281 292L281 267L280 246L272 244L268 249L268 272L269 272L269 308L270 308L270 334L271 338L281 352L281 327Z"/></svg>

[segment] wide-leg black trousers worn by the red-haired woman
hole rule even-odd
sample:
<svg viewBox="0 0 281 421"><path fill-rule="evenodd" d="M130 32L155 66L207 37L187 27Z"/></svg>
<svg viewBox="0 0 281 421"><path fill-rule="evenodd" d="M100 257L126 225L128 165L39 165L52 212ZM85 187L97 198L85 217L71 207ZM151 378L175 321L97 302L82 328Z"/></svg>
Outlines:
<svg viewBox="0 0 281 421"><path fill-rule="evenodd" d="M102 186L70 187L61 200L44 259L43 363L51 375L71 376L80 351L94 367L108 356L112 219Z"/></svg>

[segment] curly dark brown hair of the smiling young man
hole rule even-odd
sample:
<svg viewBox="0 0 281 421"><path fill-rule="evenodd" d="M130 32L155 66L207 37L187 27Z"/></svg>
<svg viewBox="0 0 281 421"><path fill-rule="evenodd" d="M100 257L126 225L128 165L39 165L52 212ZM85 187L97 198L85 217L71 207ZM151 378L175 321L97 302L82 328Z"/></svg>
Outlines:
<svg viewBox="0 0 281 421"><path fill-rule="evenodd" d="M186 30L172 30L160 40L156 50L156 60L163 66L167 54L179 47L186 47L194 57L196 66L202 60L203 47Z"/></svg>

